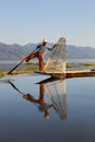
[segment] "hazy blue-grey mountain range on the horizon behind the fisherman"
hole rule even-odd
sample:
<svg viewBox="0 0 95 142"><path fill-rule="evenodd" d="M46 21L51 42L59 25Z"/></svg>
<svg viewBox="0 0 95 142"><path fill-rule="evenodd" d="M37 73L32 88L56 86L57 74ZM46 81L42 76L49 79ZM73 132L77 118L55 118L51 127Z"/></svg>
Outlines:
<svg viewBox="0 0 95 142"><path fill-rule="evenodd" d="M38 44L27 44L24 46L13 44L7 45L0 43L0 60L19 60L31 54ZM52 43L49 43L52 46ZM67 46L68 59L95 59L94 47L78 47L73 45ZM50 54L50 52L49 52ZM46 58L48 58L47 54Z"/></svg>

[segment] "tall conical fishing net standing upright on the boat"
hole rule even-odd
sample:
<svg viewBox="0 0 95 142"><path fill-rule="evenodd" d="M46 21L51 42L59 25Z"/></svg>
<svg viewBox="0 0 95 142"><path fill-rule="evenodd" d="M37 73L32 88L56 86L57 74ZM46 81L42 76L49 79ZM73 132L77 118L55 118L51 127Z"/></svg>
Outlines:
<svg viewBox="0 0 95 142"><path fill-rule="evenodd" d="M67 46L66 38L61 37L52 50L46 66L45 72L66 73Z"/></svg>

